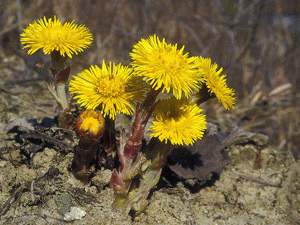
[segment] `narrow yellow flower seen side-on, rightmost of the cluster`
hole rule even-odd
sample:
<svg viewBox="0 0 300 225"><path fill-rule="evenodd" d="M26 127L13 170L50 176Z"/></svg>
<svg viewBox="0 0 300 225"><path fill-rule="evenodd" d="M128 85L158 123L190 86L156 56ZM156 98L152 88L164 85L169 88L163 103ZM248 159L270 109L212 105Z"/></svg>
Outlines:
<svg viewBox="0 0 300 225"><path fill-rule="evenodd" d="M212 63L210 58L204 57L198 57L197 64L208 90L215 94L225 109L232 109L236 103L235 92L227 86L226 75L222 74L223 68L218 69L216 63Z"/></svg>

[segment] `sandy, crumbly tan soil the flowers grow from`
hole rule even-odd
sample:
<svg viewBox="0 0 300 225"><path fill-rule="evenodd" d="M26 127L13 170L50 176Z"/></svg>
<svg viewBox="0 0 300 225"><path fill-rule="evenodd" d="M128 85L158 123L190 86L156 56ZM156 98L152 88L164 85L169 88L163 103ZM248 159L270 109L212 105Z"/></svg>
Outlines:
<svg viewBox="0 0 300 225"><path fill-rule="evenodd" d="M21 154L26 147L7 134L7 127L51 118L55 103L41 81L13 82L13 74L24 68L12 62L15 71L2 68L0 81L5 84L0 93L0 224L299 224L300 163L289 151L268 145L231 146L231 162L213 185L196 193L180 183L156 190L135 218L112 208L109 170L99 170L84 185L69 171L73 153L55 147L38 150L28 163Z"/></svg>

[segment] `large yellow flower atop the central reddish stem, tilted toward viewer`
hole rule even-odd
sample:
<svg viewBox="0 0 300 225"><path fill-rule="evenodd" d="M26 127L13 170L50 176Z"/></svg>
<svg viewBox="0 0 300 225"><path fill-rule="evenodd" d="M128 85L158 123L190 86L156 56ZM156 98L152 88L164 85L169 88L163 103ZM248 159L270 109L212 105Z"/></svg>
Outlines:
<svg viewBox="0 0 300 225"><path fill-rule="evenodd" d="M177 44L168 44L153 35L135 44L130 56L135 73L155 90L172 92L180 99L199 87L195 57L188 57L184 47L178 49Z"/></svg>

